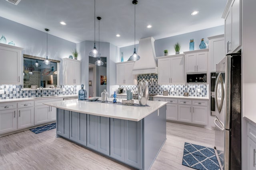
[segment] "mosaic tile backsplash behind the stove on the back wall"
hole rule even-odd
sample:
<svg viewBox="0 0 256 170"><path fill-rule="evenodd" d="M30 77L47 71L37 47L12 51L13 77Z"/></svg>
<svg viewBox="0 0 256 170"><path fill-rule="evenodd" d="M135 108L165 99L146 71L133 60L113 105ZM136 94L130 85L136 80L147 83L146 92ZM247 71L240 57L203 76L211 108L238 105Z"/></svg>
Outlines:
<svg viewBox="0 0 256 170"><path fill-rule="evenodd" d="M188 92L188 96L206 97L208 96L209 86L207 84L189 84L189 85L158 85L157 74L140 74L138 75L138 82L148 81L149 94L162 95L164 90L168 91L170 96L183 96L184 92ZM137 85L121 85L126 90L132 90L135 94L138 93Z"/></svg>

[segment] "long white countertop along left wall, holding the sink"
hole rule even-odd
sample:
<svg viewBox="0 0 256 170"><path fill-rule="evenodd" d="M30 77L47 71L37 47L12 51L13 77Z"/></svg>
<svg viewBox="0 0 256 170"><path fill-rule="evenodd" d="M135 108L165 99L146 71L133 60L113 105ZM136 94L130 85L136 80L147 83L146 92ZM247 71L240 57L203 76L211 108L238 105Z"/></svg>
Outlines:
<svg viewBox="0 0 256 170"><path fill-rule="evenodd" d="M31 100L43 100L43 99L73 98L73 97L78 97L78 95L77 94L72 94L72 95L60 95L60 96L45 96L45 97L32 97L32 98L3 99L3 100L0 100L0 103L24 102L24 101L31 101Z"/></svg>

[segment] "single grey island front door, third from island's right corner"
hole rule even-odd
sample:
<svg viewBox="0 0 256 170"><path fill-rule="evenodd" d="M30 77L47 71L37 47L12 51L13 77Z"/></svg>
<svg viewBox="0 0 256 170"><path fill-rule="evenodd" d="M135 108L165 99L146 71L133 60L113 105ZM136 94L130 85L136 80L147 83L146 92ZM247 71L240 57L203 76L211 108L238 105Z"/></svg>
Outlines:
<svg viewBox="0 0 256 170"><path fill-rule="evenodd" d="M97 150L99 152L102 152L106 155L110 154L110 118L109 117L98 117L98 132L96 133L98 135L98 142L97 142Z"/></svg>

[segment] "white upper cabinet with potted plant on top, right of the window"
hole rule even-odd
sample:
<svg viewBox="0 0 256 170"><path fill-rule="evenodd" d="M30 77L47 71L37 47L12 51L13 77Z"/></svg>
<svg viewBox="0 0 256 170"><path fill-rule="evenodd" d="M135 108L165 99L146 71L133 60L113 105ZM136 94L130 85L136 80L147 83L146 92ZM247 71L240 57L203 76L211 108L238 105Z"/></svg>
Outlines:
<svg viewBox="0 0 256 170"><path fill-rule="evenodd" d="M81 61L64 58L63 60L63 84L81 84Z"/></svg>

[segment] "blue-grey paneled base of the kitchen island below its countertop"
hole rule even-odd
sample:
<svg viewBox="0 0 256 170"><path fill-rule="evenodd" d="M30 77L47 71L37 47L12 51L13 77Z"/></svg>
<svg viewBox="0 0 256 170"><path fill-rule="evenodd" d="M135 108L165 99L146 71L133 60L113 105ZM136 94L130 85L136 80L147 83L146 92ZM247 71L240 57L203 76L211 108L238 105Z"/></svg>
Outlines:
<svg viewBox="0 0 256 170"><path fill-rule="evenodd" d="M94 123L89 123L89 115L85 113L57 109L56 114L56 137L63 137L140 170L150 169L166 141L166 105L140 121L108 118L110 128L106 128L106 130L109 132L110 139L107 140L110 147L107 149L109 151L104 153L97 148L88 146L88 140L90 140L88 134L86 142L84 142L85 132L88 133L91 124L97 123L94 128L101 127L101 121L96 122L96 120L100 120L101 116L96 116ZM85 117L87 120L84 119ZM106 117L102 118L106 119ZM105 125L106 121L104 121L103 127L106 127ZM79 133L81 131L82 133ZM97 135L98 130L94 133L98 136L95 139L100 143L102 140L99 134ZM83 142L79 141L81 138Z"/></svg>

